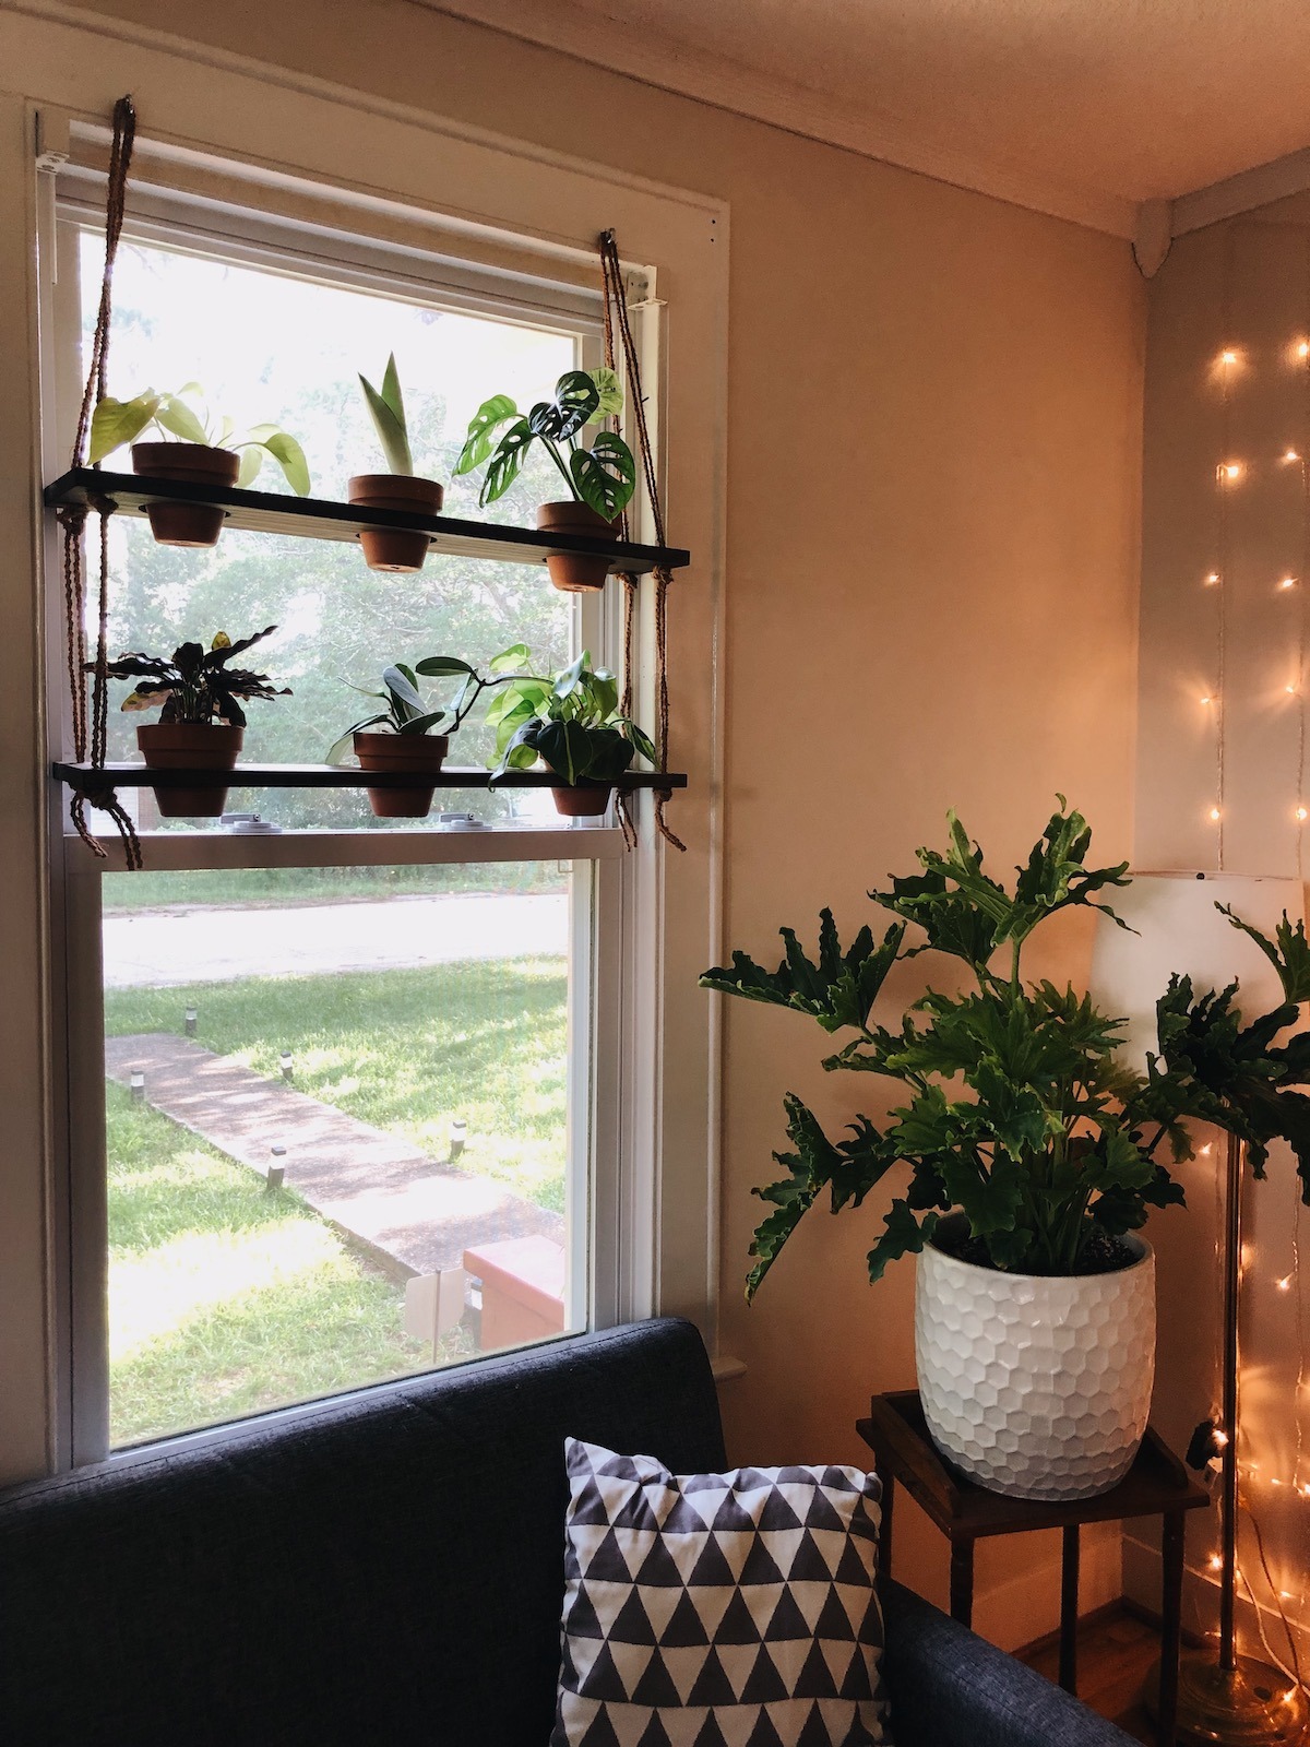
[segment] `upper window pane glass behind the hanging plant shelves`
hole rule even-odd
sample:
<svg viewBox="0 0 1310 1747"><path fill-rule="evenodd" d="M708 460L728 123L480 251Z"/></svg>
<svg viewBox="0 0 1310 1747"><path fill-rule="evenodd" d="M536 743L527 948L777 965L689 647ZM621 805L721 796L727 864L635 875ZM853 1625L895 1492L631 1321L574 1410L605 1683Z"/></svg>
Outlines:
<svg viewBox="0 0 1310 1747"><path fill-rule="evenodd" d="M86 356L103 241L91 231L79 234ZM479 480L456 479L454 461L482 400L508 393L531 405L575 365L578 344L575 332L320 285L124 238L114 278L110 393L129 398L197 381L218 419L231 418L238 430L278 423L297 437L313 494L344 500L351 473L386 470L358 374L381 383L395 353L414 466L445 486L445 512L531 526L536 503L557 498L561 487L540 445L512 491L486 510L477 505ZM105 465L131 472L131 456L122 449ZM255 489L286 489L271 459ZM213 550L197 552L155 545L148 526L126 515L112 521L110 535L110 657L126 650L168 655L183 639L208 641L217 631L236 639L278 627L252 650L250 666L293 695L250 704L246 760L320 763L351 723L372 713L376 706L360 690L377 690L391 660L459 655L484 664L510 643L526 643L540 669L571 659L571 597L550 587L541 564L430 554L417 575L390 575L367 570L355 543L225 529ZM134 730L154 720L122 715L126 692L112 683L110 760L136 758ZM447 702L449 687L445 695L437 687L433 697ZM451 742L451 763L486 763L491 735L479 718L475 711ZM456 809L470 804L487 821L554 821L550 798L540 791L451 800ZM133 791L131 805L141 809L143 826L161 826L148 790ZM358 790L232 790L229 809L283 826L386 828ZM190 826L182 821L175 828Z"/></svg>

